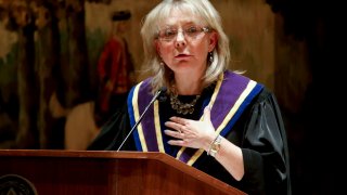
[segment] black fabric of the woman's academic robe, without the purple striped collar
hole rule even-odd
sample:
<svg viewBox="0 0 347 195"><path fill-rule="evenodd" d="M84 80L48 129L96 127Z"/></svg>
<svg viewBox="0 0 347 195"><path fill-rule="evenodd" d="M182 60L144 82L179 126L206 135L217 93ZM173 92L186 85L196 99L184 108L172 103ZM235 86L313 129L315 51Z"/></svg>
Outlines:
<svg viewBox="0 0 347 195"><path fill-rule="evenodd" d="M167 121L171 116L200 119L204 100L210 99L214 88L207 88L198 99L192 115L177 114L170 106L169 99L159 102L160 118ZM191 102L195 96L179 96L181 102ZM128 135L131 126L128 106L117 112L102 128L99 136L88 150L117 151ZM167 136L167 135L164 135ZM275 96L268 89L253 98L247 107L223 135L242 148L245 174L241 181L233 177L211 156L202 154L193 167L234 186L247 194L291 194L290 159L286 132ZM169 140L170 138L164 138ZM129 136L121 151L137 151L133 136ZM179 147L170 146L169 155L177 154Z"/></svg>

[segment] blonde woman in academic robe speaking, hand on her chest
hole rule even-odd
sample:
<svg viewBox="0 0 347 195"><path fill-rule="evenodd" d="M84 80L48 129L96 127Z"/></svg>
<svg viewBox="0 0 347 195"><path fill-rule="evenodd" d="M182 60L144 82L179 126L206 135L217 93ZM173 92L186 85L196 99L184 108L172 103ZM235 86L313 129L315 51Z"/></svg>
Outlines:
<svg viewBox="0 0 347 195"><path fill-rule="evenodd" d="M163 152L248 194L291 194L275 98L227 69L229 41L210 2L165 0L146 15L141 35L153 77L132 88L127 108L89 148ZM163 87L167 100L154 102L120 144Z"/></svg>

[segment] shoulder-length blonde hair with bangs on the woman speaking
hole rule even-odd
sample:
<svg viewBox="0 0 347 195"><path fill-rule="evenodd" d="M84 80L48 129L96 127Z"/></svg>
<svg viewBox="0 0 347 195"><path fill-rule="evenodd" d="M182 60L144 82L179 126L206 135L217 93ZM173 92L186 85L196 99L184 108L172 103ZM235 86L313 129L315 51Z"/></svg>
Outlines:
<svg viewBox="0 0 347 195"><path fill-rule="evenodd" d="M222 23L219 13L208 0L163 0L157 4L143 20L141 36L144 49L143 67L149 67L153 74L153 92L166 86L170 90L172 72L160 65L162 61L154 46L159 24L169 17L174 9L189 11L202 20L206 26L217 32L218 41L213 51L213 63L208 64L205 76L203 77L203 87L215 82L219 76L227 69L230 62L229 39L222 29ZM208 56L206 56L206 62Z"/></svg>

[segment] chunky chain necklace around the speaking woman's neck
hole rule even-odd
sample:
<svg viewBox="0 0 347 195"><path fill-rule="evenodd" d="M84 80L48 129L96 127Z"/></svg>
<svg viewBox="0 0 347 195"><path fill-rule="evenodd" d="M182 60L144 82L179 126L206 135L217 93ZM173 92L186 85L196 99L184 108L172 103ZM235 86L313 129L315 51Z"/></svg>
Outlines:
<svg viewBox="0 0 347 195"><path fill-rule="evenodd" d="M178 100L178 94L170 94L170 104L172 109L175 109L178 114L193 114L194 106L200 99L200 95L196 95L195 99L191 103L182 103Z"/></svg>

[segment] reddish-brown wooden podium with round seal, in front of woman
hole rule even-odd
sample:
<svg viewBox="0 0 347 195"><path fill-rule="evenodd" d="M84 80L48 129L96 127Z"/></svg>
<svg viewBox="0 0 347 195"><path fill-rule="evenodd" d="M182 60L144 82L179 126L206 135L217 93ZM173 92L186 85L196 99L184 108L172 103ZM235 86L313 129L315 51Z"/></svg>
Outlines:
<svg viewBox="0 0 347 195"><path fill-rule="evenodd" d="M20 180L38 195L245 194L163 153L0 150L0 194Z"/></svg>

